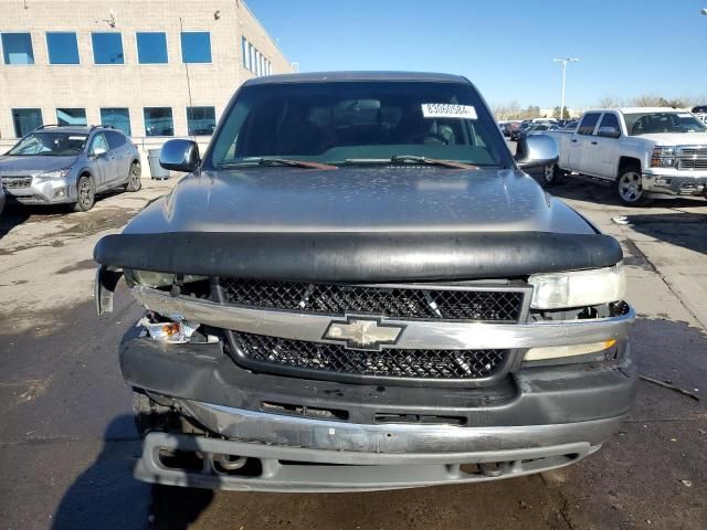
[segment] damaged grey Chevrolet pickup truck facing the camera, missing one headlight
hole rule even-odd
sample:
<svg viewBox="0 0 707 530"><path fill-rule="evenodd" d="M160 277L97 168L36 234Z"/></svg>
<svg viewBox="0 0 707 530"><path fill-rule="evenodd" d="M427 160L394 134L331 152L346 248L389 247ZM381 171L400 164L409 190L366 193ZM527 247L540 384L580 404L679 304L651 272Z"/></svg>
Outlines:
<svg viewBox="0 0 707 530"><path fill-rule="evenodd" d="M523 169L464 77L255 78L188 172L95 248L137 478L243 490L469 483L566 466L627 412L622 251Z"/></svg>

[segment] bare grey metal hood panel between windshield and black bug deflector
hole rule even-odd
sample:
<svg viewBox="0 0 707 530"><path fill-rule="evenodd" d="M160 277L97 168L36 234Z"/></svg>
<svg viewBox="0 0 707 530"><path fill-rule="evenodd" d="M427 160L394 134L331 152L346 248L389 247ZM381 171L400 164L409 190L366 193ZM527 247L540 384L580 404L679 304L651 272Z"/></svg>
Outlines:
<svg viewBox="0 0 707 530"><path fill-rule="evenodd" d="M262 168L190 176L125 233L593 233L527 174L443 168Z"/></svg>

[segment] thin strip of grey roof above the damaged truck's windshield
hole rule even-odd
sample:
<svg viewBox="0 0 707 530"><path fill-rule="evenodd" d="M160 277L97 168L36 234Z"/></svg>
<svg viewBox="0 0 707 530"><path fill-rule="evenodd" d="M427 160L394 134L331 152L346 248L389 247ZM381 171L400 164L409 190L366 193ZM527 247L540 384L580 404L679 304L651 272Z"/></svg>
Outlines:
<svg viewBox="0 0 707 530"><path fill-rule="evenodd" d="M446 83L468 83L462 75L425 72L312 72L305 74L281 74L254 77L244 85L268 85L273 83L310 83L336 81L431 81Z"/></svg>

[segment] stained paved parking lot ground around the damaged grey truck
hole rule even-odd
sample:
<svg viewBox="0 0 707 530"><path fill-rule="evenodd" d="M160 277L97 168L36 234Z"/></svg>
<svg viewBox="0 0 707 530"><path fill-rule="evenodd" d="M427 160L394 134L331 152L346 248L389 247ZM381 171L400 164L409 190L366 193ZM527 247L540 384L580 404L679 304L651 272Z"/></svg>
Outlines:
<svg viewBox="0 0 707 530"><path fill-rule="evenodd" d="M641 380L599 453L502 481L326 495L135 481L140 443L117 343L141 311L122 286L115 312L95 316L92 252L176 180L102 198L88 213L3 214L0 528L707 528L707 201L627 209L576 179L552 193L623 245L640 373L699 400Z"/></svg>

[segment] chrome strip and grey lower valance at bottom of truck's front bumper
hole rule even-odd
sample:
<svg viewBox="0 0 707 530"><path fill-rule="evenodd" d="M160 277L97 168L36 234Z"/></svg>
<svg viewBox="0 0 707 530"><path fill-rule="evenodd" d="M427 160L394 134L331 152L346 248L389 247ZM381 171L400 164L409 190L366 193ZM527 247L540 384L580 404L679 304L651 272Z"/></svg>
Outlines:
<svg viewBox="0 0 707 530"><path fill-rule="evenodd" d="M209 428L238 439L150 433L136 478L270 491L362 491L483 481L573 464L595 452L621 421L519 427L357 425L179 403ZM271 443L263 443L265 437ZM197 456L201 465L167 464L162 455L175 451ZM223 455L226 462L252 465L224 469L219 465Z"/></svg>

